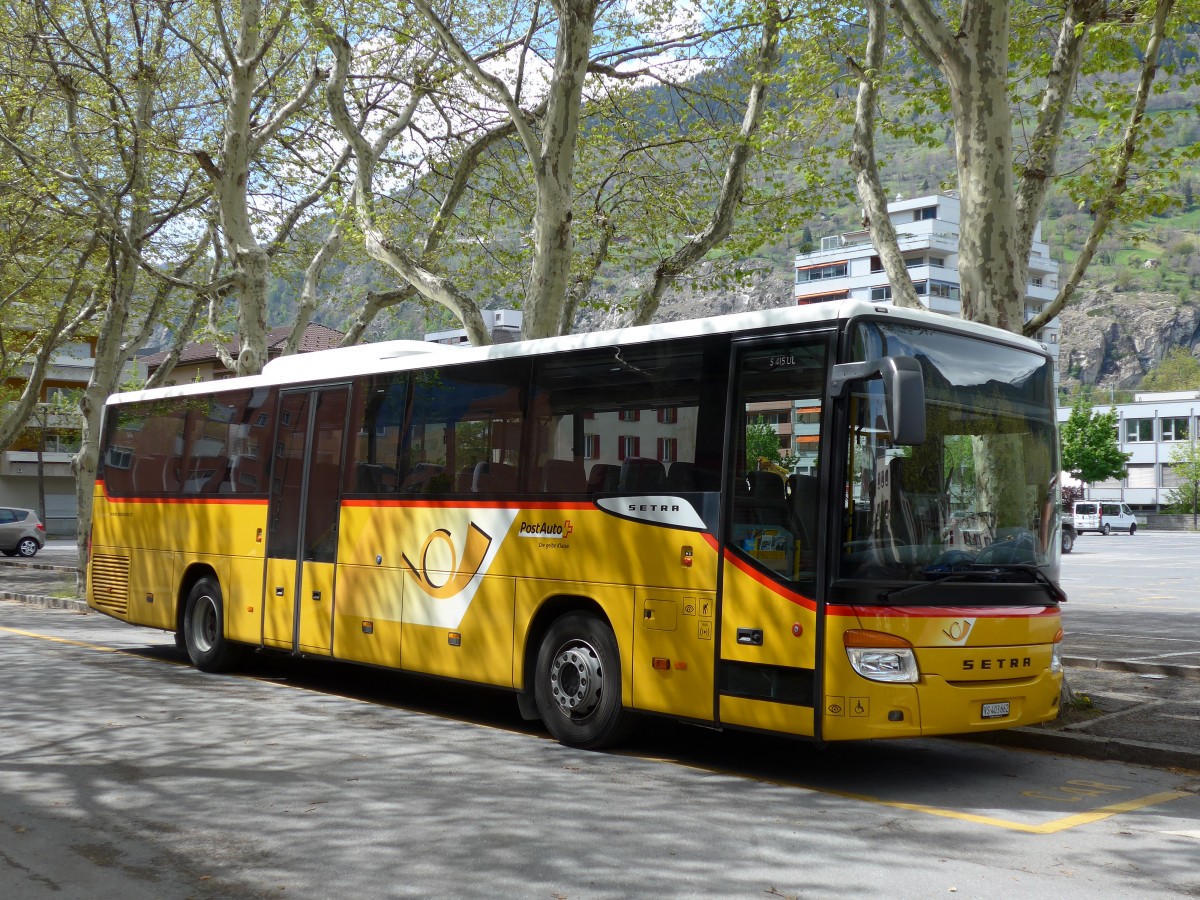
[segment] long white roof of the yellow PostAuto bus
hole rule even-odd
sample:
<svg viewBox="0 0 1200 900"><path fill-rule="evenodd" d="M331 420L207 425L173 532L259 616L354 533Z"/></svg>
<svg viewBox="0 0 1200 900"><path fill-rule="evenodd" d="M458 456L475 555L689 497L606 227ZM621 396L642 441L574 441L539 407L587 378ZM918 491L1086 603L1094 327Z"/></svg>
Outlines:
<svg viewBox="0 0 1200 900"><path fill-rule="evenodd" d="M1045 353L1036 341L1014 335L1002 329L965 322L925 310L905 310L890 304L868 304L860 300L830 300L803 306L785 306L756 312L713 316L702 319L683 319L653 325L588 331L535 341L514 341L485 347L450 346L426 341L384 341L379 343L340 347L330 350L280 356L263 367L262 374L227 378L215 388L212 382L188 382L187 384L156 388L152 390L114 394L109 403L127 403L162 397L182 397L194 394L211 394L216 390L266 388L281 384L304 384L374 372L404 371L440 365L458 365L487 359L565 353L594 347L613 347L676 340L700 335L755 332L787 325L833 324L864 316L887 316L918 325L937 325L942 329L974 335L989 341L1001 341L1034 353Z"/></svg>

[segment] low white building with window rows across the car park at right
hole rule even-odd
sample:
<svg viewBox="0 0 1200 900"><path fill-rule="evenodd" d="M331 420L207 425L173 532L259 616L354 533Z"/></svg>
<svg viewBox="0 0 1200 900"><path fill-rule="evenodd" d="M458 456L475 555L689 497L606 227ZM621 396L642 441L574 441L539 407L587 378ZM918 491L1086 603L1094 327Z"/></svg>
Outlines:
<svg viewBox="0 0 1200 900"><path fill-rule="evenodd" d="M1103 414L1117 410L1117 442L1132 454L1128 476L1098 481L1085 487L1086 499L1123 500L1139 512L1159 512L1168 496L1180 484L1171 469L1171 450L1195 444L1200 391L1134 394L1133 403L1100 403L1092 408ZM1070 407L1060 407L1058 424L1070 416Z"/></svg>

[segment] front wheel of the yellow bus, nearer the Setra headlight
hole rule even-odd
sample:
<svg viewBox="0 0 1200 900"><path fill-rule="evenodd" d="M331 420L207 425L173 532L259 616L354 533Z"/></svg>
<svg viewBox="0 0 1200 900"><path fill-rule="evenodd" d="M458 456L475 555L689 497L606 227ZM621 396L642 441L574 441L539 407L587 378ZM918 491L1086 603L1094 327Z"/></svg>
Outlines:
<svg viewBox="0 0 1200 900"><path fill-rule="evenodd" d="M596 750L632 731L620 704L620 654L606 622L584 612L560 617L538 650L534 698L546 728L568 746Z"/></svg>

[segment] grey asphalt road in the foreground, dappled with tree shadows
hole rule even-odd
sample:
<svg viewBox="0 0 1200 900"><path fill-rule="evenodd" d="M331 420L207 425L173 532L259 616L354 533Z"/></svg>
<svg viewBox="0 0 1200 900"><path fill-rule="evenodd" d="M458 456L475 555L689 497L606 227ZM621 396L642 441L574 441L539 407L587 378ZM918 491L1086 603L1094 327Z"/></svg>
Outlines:
<svg viewBox="0 0 1200 900"><path fill-rule="evenodd" d="M169 635L16 604L0 684L5 898L1200 893L1200 782L1168 770L670 724L583 752L503 694L208 676Z"/></svg>

